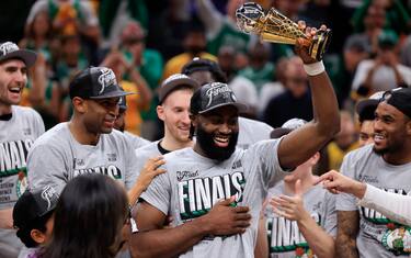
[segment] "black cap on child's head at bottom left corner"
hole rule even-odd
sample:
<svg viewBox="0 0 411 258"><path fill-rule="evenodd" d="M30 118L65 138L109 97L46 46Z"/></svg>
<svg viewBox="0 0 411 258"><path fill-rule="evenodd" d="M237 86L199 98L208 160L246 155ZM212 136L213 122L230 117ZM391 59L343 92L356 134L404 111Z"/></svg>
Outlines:
<svg viewBox="0 0 411 258"><path fill-rule="evenodd" d="M37 218L53 212L57 205L57 191L47 186L39 191L26 190L13 209L13 224L16 229L24 229Z"/></svg>

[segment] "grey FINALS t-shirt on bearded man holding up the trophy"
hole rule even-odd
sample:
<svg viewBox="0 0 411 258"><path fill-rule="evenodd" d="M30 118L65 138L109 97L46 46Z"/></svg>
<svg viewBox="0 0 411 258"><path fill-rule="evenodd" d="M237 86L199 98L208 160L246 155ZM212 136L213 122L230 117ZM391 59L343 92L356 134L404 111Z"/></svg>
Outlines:
<svg viewBox="0 0 411 258"><path fill-rule="evenodd" d="M157 176L141 198L171 214L174 226L206 214L218 200L232 195L233 205L249 206L252 216L244 234L205 237L180 257L253 257L263 200L269 187L286 175L277 157L279 141L262 141L247 150L237 148L221 162L190 147L164 155L167 172Z"/></svg>

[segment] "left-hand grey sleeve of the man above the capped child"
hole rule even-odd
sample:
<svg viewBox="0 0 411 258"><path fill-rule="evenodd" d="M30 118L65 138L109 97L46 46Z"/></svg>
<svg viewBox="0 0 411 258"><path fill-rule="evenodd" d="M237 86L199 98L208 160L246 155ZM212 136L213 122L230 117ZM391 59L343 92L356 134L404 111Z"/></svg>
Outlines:
<svg viewBox="0 0 411 258"><path fill-rule="evenodd" d="M58 193L68 181L64 154L52 146L37 145L28 152L27 180L31 189L52 186Z"/></svg>

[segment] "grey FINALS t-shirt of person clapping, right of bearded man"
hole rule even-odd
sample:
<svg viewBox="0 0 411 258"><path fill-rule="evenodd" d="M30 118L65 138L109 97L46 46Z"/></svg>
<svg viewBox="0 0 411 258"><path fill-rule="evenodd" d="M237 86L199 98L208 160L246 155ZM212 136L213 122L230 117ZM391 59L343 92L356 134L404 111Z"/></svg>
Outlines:
<svg viewBox="0 0 411 258"><path fill-rule="evenodd" d="M269 190L269 197L284 194L284 182ZM336 235L335 195L322 186L311 187L302 197L304 207L324 232ZM316 257L306 238L300 233L297 222L286 220L273 212L271 205L265 209L266 231L271 258Z"/></svg>

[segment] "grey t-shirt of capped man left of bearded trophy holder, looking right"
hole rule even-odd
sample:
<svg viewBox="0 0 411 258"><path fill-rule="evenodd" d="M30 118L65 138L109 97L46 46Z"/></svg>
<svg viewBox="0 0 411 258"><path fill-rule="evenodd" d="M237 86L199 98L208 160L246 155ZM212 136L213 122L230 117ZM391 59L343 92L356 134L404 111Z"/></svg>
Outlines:
<svg viewBox="0 0 411 258"><path fill-rule="evenodd" d="M99 143L82 145L72 136L68 123L60 123L42 135L28 153L28 184L37 189L52 186L61 192L67 182L82 173L102 173L130 189L137 179L133 146L116 130L101 134Z"/></svg>

